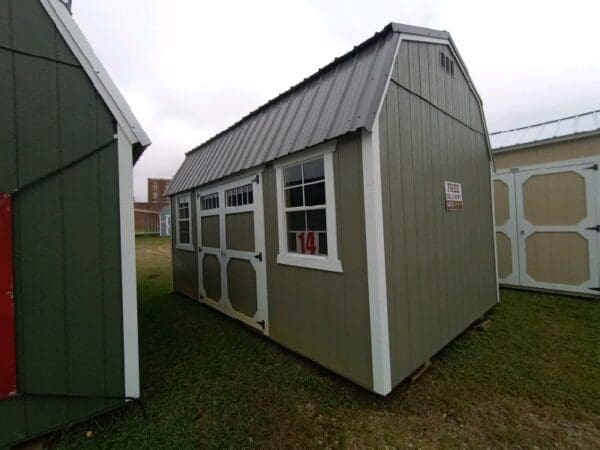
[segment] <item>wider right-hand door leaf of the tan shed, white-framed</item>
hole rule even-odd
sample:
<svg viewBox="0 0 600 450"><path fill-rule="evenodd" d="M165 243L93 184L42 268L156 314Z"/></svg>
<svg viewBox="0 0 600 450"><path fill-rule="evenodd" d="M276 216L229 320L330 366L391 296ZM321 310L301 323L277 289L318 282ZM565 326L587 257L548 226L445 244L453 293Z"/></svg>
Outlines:
<svg viewBox="0 0 600 450"><path fill-rule="evenodd" d="M599 184L593 162L515 174L522 286L597 292Z"/></svg>

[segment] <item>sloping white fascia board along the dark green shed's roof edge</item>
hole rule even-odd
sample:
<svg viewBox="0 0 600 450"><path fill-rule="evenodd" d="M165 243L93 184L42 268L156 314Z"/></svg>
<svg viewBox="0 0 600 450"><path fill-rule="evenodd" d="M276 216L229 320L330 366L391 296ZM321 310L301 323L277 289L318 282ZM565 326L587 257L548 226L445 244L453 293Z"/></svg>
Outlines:
<svg viewBox="0 0 600 450"><path fill-rule="evenodd" d="M148 135L65 5L59 0L40 0L40 3L123 129L129 142L139 143L143 148L148 147L151 144Z"/></svg>

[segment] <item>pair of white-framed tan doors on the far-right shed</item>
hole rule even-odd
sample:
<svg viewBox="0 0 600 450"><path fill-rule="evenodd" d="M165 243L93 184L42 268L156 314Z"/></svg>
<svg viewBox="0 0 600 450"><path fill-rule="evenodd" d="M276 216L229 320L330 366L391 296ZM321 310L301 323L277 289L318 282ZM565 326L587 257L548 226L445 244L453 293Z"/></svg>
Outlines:
<svg viewBox="0 0 600 450"><path fill-rule="evenodd" d="M598 161L497 173L499 282L598 294L599 202Z"/></svg>

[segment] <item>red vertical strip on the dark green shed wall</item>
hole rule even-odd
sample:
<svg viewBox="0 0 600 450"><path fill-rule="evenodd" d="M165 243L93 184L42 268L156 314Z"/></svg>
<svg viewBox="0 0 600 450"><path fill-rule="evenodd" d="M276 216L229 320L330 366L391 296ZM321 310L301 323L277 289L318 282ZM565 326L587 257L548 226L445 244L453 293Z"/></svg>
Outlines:
<svg viewBox="0 0 600 450"><path fill-rule="evenodd" d="M12 258L12 201L0 193L0 399L17 390Z"/></svg>

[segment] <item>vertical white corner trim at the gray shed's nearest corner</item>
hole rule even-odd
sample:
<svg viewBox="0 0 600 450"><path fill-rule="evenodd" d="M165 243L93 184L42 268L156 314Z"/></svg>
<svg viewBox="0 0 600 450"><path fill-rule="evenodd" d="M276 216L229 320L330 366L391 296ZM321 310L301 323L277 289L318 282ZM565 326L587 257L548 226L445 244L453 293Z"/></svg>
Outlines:
<svg viewBox="0 0 600 450"><path fill-rule="evenodd" d="M392 390L392 368L378 121L379 118L376 119L372 132L363 129L361 137L373 390L378 394L387 395Z"/></svg>

